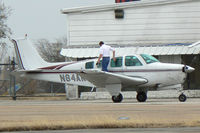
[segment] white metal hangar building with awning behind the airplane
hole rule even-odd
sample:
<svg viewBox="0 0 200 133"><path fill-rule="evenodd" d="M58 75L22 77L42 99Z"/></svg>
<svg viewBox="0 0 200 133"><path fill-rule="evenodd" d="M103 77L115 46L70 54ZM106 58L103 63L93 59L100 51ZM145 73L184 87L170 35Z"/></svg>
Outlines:
<svg viewBox="0 0 200 133"><path fill-rule="evenodd" d="M146 53L191 65L190 89L200 89L199 7L199 0L141 0L62 9L68 44L61 54L74 60L98 57L98 43L104 41L116 48L116 56ZM71 88L77 95L78 87Z"/></svg>

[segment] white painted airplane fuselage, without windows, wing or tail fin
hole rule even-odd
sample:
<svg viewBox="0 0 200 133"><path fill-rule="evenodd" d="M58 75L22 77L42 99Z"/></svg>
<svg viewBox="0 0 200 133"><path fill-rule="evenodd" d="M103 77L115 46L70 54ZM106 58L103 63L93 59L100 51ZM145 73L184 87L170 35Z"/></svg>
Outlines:
<svg viewBox="0 0 200 133"><path fill-rule="evenodd" d="M185 81L186 73L182 71L182 68L184 67L184 65L182 64L169 64L160 62L146 64L145 61L139 55L134 56L138 57L138 59L142 63L142 66L125 66L123 60L121 67L111 68L109 64L109 72L131 77L141 77L148 81L147 83L138 86L138 88L165 87L176 84L183 84L183 82ZM89 81L82 78L79 74L76 73L77 71L80 72L87 70L85 68L85 63L91 61L94 61L93 69L101 69L97 68L97 66L95 65L97 59L92 59L74 62L69 65L63 65L63 67L59 69L59 72L52 72L46 70L46 72L43 71L38 73L28 73L26 74L26 76L38 80L93 87L94 85L92 83L90 83ZM122 86L122 88L127 87L130 86Z"/></svg>

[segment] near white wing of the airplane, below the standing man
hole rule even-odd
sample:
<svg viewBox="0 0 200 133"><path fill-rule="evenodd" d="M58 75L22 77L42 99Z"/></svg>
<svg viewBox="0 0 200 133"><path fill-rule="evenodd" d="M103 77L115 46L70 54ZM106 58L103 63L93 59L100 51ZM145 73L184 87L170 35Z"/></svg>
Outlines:
<svg viewBox="0 0 200 133"><path fill-rule="evenodd" d="M148 81L141 77L130 77L122 74L104 72L100 70L86 70L80 73L81 77L85 78L96 87L105 88L108 84L121 84L122 86L138 86L145 84Z"/></svg>

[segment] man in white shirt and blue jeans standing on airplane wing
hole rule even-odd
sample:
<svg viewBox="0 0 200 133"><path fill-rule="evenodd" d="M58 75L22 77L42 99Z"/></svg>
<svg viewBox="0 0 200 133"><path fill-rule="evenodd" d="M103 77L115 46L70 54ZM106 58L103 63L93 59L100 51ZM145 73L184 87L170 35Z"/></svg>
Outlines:
<svg viewBox="0 0 200 133"><path fill-rule="evenodd" d="M98 58L97 63L100 64L100 60L101 60L101 58L103 58L102 59L102 71L108 72L107 67L108 67L108 64L110 61L110 51L113 52L113 60L116 61L115 49L112 48L111 46L104 44L103 41L100 41L99 45L100 45L100 50L99 50L99 58Z"/></svg>

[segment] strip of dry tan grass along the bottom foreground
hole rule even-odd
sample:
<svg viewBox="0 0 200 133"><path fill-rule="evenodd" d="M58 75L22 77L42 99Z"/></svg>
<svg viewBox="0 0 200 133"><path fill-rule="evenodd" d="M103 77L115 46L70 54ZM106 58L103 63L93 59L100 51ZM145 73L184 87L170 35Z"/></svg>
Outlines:
<svg viewBox="0 0 200 133"><path fill-rule="evenodd" d="M163 127L197 127L197 120L119 120L113 116L71 117L68 120L23 120L1 122L0 131L29 131L29 130L64 130L88 128L163 128Z"/></svg>

